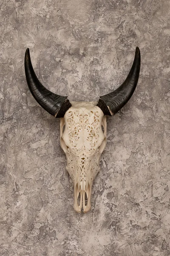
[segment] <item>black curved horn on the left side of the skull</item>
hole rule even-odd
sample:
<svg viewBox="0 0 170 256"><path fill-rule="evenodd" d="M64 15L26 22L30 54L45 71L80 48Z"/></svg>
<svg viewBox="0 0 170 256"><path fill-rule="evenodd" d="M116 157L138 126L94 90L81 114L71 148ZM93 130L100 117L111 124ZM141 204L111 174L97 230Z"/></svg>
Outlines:
<svg viewBox="0 0 170 256"><path fill-rule="evenodd" d="M47 90L38 80L31 64L29 49L25 54L26 81L36 101L48 113L55 117L64 117L65 112L71 107L67 96L60 96Z"/></svg>

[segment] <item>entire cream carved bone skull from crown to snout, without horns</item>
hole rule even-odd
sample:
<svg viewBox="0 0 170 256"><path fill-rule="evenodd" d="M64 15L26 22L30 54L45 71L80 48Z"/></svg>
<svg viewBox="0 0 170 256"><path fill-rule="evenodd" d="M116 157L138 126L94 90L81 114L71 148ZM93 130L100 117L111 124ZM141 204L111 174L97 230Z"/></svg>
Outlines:
<svg viewBox="0 0 170 256"><path fill-rule="evenodd" d="M106 145L106 118L96 104L71 102L72 107L61 120L60 142L67 158L66 169L74 182L74 209L78 212L82 204L84 212L91 208L91 187Z"/></svg>

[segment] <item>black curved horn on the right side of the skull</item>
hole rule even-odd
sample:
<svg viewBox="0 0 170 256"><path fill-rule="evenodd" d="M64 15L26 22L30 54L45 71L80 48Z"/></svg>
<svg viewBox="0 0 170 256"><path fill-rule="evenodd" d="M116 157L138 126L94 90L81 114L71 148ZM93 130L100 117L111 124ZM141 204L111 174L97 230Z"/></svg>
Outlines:
<svg viewBox="0 0 170 256"><path fill-rule="evenodd" d="M105 115L116 114L131 98L139 79L141 56L139 47L136 47L133 65L126 80L113 92L100 96L97 106Z"/></svg>

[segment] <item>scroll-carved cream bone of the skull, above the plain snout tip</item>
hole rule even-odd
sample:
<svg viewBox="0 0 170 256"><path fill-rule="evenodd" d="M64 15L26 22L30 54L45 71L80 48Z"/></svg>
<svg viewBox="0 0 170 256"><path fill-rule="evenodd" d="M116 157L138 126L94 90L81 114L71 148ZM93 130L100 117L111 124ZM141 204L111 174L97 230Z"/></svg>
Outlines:
<svg viewBox="0 0 170 256"><path fill-rule="evenodd" d="M82 190L87 189L88 184L92 186L100 169L99 157L104 147L102 151L99 151L99 147L106 136L102 131L102 122L105 122L103 113L95 105L90 108L73 106L65 113L62 139L68 148L65 151L67 170L74 184L77 183Z"/></svg>

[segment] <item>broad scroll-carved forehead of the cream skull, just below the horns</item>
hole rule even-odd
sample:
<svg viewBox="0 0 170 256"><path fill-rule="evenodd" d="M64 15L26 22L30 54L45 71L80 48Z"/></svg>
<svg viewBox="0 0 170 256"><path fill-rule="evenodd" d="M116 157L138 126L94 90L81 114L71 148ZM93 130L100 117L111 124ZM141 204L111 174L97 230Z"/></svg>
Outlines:
<svg viewBox="0 0 170 256"><path fill-rule="evenodd" d="M102 131L104 114L96 102L71 103L72 107L64 116L62 139L75 154L93 154L105 138Z"/></svg>

